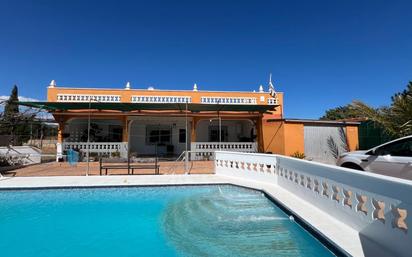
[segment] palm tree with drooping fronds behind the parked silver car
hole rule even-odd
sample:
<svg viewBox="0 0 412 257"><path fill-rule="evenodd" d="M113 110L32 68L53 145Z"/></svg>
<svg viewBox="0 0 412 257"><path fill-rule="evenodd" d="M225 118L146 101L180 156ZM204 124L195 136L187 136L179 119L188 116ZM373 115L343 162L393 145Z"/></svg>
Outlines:
<svg viewBox="0 0 412 257"><path fill-rule="evenodd" d="M390 106L373 108L361 101L352 103L353 109L381 125L391 136L402 137L412 134L412 82L406 89L391 97Z"/></svg>

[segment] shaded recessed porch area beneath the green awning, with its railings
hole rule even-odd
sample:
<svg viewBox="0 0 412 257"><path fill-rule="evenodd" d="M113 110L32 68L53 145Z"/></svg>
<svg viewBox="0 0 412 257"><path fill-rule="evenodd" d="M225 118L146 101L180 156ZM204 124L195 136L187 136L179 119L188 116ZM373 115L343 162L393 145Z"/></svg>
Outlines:
<svg viewBox="0 0 412 257"><path fill-rule="evenodd" d="M208 160L217 150L257 152L258 149L253 119L188 117L186 122L186 117L179 116L127 116L91 117L89 122L87 117L78 117L62 126L63 155L69 149L85 153L89 145L91 158L176 159L187 150L191 151L191 159Z"/></svg>

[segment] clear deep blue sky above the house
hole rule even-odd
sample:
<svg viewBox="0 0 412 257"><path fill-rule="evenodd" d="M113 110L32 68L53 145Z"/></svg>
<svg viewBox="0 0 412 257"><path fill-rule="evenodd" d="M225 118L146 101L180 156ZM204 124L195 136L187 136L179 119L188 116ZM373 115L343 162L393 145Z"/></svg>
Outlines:
<svg viewBox="0 0 412 257"><path fill-rule="evenodd" d="M269 73L289 118L412 80L412 1L2 1L0 95L46 85L257 90Z"/></svg>

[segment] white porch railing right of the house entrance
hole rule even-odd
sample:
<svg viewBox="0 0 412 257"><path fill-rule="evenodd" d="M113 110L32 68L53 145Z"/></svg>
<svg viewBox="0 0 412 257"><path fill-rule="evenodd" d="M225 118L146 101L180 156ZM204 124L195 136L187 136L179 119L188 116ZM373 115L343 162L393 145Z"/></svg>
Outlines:
<svg viewBox="0 0 412 257"><path fill-rule="evenodd" d="M213 160L215 151L255 153L257 144L255 142L193 142L190 150L191 160Z"/></svg>

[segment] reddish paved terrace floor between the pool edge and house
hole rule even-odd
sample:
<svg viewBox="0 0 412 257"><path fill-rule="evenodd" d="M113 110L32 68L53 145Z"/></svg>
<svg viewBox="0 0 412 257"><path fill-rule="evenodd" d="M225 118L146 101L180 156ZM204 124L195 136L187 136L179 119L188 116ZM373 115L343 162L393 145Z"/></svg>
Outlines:
<svg viewBox="0 0 412 257"><path fill-rule="evenodd" d="M115 165L116 163L110 163ZM124 165L124 163L123 163ZM159 173L165 174L184 174L184 162L159 162ZM195 161L189 163L190 174L212 174L214 170L213 161ZM11 170L3 173L5 177L43 177L43 176L85 176L87 171L87 163L81 162L75 166L69 165L67 162L57 163L49 162L35 164L23 168ZM104 171L103 171L104 172ZM91 162L89 175L99 175L99 163ZM127 175L126 169L109 170L109 175ZM153 169L135 170L135 175L153 174Z"/></svg>

